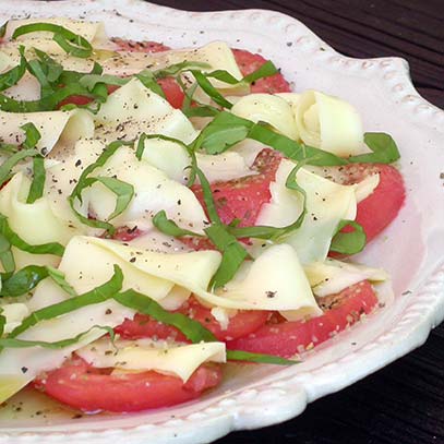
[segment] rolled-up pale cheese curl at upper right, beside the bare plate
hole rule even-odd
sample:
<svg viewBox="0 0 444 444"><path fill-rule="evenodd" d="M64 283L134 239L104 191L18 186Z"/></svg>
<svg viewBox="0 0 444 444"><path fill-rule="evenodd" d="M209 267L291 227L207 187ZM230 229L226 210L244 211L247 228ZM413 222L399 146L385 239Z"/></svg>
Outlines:
<svg viewBox="0 0 444 444"><path fill-rule="evenodd" d="M303 143L340 157L363 152L362 121L347 101L317 91L298 99L296 123Z"/></svg>

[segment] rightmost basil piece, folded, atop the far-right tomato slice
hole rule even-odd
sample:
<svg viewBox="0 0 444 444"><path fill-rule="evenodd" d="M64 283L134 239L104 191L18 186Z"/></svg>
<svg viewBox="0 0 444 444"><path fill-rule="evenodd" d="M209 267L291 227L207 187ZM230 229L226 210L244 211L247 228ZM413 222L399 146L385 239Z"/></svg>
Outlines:
<svg viewBox="0 0 444 444"><path fill-rule="evenodd" d="M373 153L349 157L348 161L353 164L392 164L400 157L398 147L389 134L365 133L364 142Z"/></svg>

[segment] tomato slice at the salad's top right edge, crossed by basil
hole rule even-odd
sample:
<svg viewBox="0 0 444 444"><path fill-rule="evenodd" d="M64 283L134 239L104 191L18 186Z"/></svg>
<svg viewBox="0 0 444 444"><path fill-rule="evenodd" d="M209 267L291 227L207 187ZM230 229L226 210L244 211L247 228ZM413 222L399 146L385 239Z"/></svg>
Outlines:
<svg viewBox="0 0 444 444"><path fill-rule="evenodd" d="M244 49L233 49L232 52L243 76L259 70L267 61L259 53L252 53ZM291 88L279 72L254 82L251 85L251 92L267 94L291 93Z"/></svg>

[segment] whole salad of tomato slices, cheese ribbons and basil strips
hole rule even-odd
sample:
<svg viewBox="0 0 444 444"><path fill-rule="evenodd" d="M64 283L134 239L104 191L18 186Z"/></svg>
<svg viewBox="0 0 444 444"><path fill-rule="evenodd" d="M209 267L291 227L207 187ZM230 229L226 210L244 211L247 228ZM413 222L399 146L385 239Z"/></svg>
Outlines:
<svg viewBox="0 0 444 444"><path fill-rule="evenodd" d="M379 309L350 259L405 199L396 143L273 62L101 23L0 45L0 401L172 406L227 361L293 365Z"/></svg>

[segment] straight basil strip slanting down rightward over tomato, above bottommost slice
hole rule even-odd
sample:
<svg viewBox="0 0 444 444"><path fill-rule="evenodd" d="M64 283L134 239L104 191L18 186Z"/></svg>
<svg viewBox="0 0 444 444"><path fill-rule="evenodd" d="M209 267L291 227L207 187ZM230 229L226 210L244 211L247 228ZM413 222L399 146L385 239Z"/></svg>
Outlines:
<svg viewBox="0 0 444 444"><path fill-rule="evenodd" d="M172 325L187 336L192 343L216 341L216 337L207 331L201 323L194 321L182 313L171 313L155 300L146 297L134 290L127 290L113 296L113 299L120 304L137 311L139 313L147 314L156 321L164 324Z"/></svg>

